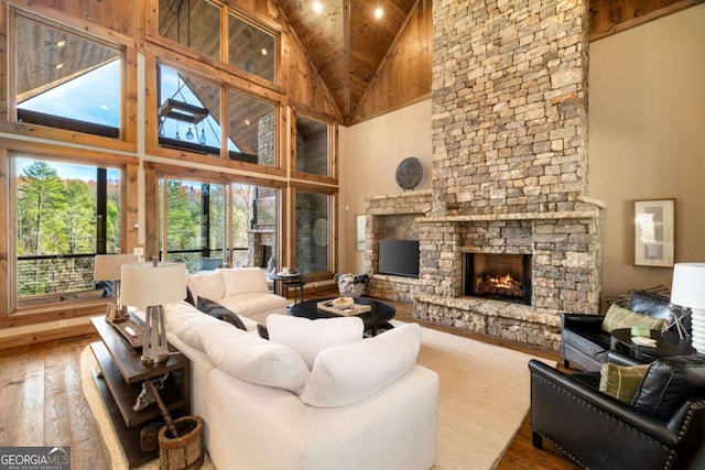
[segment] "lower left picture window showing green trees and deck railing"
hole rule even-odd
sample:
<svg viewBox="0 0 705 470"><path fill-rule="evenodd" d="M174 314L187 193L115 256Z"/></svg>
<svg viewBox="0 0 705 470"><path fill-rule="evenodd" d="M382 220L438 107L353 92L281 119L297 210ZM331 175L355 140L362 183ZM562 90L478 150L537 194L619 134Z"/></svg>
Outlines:
<svg viewBox="0 0 705 470"><path fill-rule="evenodd" d="M96 296L97 253L120 252L121 172L13 159L18 306Z"/></svg>

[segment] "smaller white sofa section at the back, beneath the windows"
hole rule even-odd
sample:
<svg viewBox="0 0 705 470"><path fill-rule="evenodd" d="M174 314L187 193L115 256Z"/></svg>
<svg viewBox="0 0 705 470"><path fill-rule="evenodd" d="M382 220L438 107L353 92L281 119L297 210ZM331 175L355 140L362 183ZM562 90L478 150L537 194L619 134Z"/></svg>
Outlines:
<svg viewBox="0 0 705 470"><path fill-rule="evenodd" d="M267 277L259 267L219 267L186 275L186 285L194 305L197 305L198 297L205 297L235 311L241 318L260 324L264 324L270 314L288 313L288 300L269 292Z"/></svg>

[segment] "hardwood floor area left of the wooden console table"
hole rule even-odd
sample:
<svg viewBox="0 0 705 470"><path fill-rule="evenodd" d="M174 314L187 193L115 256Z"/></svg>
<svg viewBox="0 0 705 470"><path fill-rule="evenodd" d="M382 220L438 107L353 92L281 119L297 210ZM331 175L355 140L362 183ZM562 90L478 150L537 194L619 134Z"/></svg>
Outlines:
<svg viewBox="0 0 705 470"><path fill-rule="evenodd" d="M98 339L0 350L0 446L70 447L72 469L110 468L80 386L80 352Z"/></svg>

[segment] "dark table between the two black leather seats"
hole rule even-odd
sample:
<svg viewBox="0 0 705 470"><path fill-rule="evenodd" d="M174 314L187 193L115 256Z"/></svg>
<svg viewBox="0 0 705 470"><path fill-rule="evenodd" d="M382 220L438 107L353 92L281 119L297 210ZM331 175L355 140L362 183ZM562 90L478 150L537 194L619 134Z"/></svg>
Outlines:
<svg viewBox="0 0 705 470"><path fill-rule="evenodd" d="M661 332L661 330L652 329L651 338L657 340L655 348L637 346L631 342L631 328L619 328L612 330L610 335L612 349L625 352L642 362L653 362L658 358L670 356L694 356L697 353L690 339L681 341L674 331Z"/></svg>

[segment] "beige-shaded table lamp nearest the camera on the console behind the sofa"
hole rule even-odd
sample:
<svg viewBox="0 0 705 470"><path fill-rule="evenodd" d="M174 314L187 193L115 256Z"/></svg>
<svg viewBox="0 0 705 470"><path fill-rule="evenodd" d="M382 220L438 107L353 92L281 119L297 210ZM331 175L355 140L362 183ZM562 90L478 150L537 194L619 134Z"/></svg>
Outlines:
<svg viewBox="0 0 705 470"><path fill-rule="evenodd" d="M144 308L142 362L159 364L169 359L163 304L186 297L186 267L183 263L124 264L122 303Z"/></svg>

